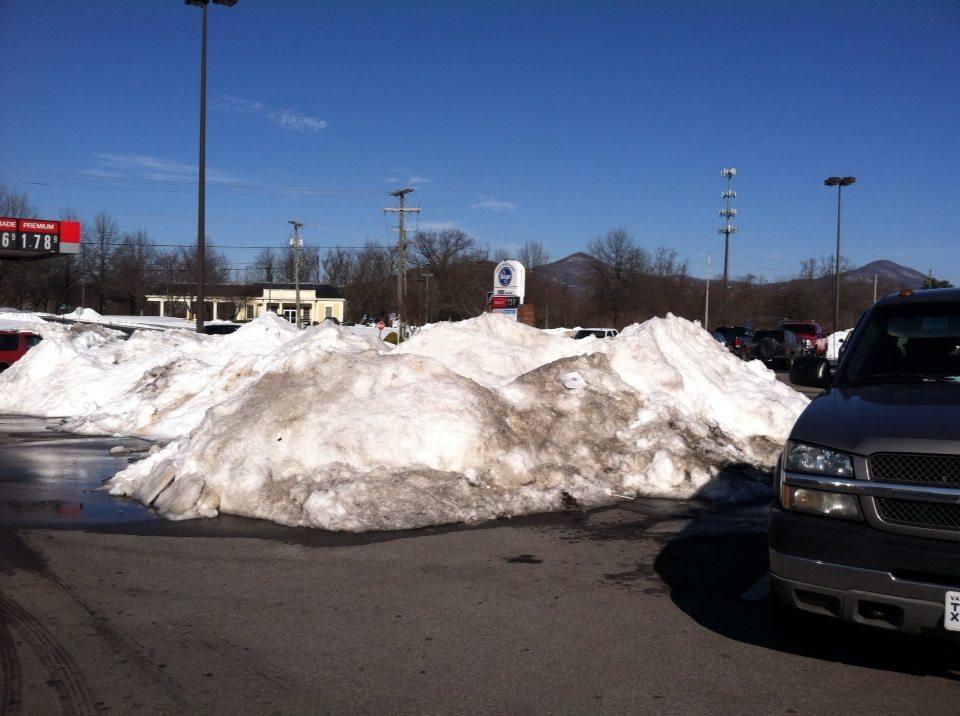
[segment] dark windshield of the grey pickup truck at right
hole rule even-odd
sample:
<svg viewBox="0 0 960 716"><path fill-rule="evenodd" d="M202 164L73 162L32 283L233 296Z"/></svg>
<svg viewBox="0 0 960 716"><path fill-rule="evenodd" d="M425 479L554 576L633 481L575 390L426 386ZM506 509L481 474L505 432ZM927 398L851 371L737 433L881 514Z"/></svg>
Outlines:
<svg viewBox="0 0 960 716"><path fill-rule="evenodd" d="M960 303L886 306L859 328L841 382L960 385Z"/></svg>

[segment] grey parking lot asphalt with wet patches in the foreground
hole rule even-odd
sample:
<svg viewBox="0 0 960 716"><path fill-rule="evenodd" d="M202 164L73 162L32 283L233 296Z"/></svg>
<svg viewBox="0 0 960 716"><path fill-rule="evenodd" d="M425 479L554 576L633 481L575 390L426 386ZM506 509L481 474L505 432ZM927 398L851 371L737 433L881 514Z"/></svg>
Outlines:
<svg viewBox="0 0 960 716"><path fill-rule="evenodd" d="M171 523L136 441L0 418L3 711L955 713L960 655L778 629L767 505L639 499L367 535ZM53 427L53 426L50 426Z"/></svg>

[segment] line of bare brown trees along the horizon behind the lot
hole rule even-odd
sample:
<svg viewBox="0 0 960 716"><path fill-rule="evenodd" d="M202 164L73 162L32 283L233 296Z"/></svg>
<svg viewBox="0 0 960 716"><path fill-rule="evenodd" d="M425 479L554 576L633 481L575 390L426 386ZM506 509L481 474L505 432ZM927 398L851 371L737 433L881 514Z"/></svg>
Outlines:
<svg viewBox="0 0 960 716"><path fill-rule="evenodd" d="M0 216L36 217L25 194L0 185ZM70 211L64 219L75 219ZM0 260L0 305L63 312L87 306L100 313L139 314L156 310L148 294L163 294L184 302L194 291L196 250L192 246L158 246L143 229L122 230L106 212L82 229L80 255L36 262ZM592 239L579 255L576 280L566 280L550 267L544 246L529 241L513 249L490 249L461 229L415 231L410 235L406 264L404 313L413 324L461 320L479 315L487 306L496 263L519 259L528 270L527 302L536 307L541 326L610 326L672 312L703 321L707 282L689 275L678 253L665 246L648 249L624 228ZM230 284L289 283L296 258L289 246L262 249L241 268L231 268L223 253L207 248L205 272L208 295ZM397 249L367 241L359 249L334 248L321 253L305 246L299 255L304 284L330 284L346 299L350 322L387 319L397 310ZM727 287L725 315L720 310L720 282L711 285L709 327L721 323L776 325L784 318L807 318L830 327L833 315L834 257L798 262L793 276L767 282L747 274ZM841 257L841 270L852 268ZM931 286L946 282L932 279ZM228 286L217 287L217 284ZM901 288L878 282L878 295ZM213 290L212 290L213 289ZM237 296L240 292L237 292ZM845 278L841 285L844 326L852 325L873 300L873 283ZM240 314L242 299L236 312Z"/></svg>

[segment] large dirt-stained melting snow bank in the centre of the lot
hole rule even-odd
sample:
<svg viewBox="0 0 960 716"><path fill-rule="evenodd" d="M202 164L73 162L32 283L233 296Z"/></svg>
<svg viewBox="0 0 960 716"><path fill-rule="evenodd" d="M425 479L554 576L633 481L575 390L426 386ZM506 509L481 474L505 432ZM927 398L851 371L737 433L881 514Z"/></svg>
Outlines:
<svg viewBox="0 0 960 716"><path fill-rule="evenodd" d="M314 330L249 366L241 385L221 379L215 401L194 398L194 410L209 405L196 428L119 473L111 493L171 519L224 512L348 531L479 522L571 498L735 501L766 490L750 475L773 465L807 403L669 315L604 341L482 316L388 352ZM141 388L165 394L127 395ZM113 424L136 414L119 410ZM731 466L740 476L721 472Z"/></svg>

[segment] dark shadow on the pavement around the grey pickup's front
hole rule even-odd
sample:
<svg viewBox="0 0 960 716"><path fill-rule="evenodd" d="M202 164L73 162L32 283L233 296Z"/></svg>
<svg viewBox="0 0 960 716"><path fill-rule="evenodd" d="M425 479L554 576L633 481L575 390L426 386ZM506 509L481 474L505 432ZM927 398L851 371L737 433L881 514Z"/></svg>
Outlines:
<svg viewBox="0 0 960 716"><path fill-rule="evenodd" d="M772 594L756 601L742 598L767 572L764 532L709 534L694 521L667 542L654 568L674 604L730 639L814 659L960 681L956 644L785 611Z"/></svg>

